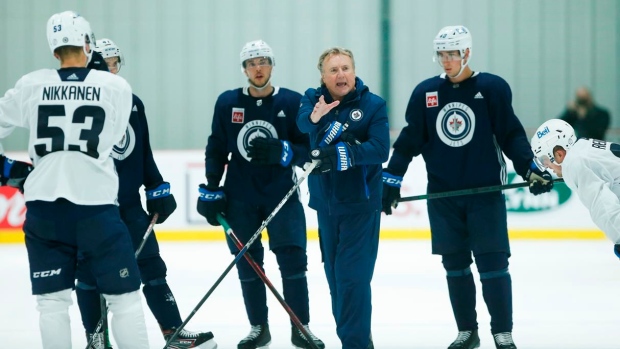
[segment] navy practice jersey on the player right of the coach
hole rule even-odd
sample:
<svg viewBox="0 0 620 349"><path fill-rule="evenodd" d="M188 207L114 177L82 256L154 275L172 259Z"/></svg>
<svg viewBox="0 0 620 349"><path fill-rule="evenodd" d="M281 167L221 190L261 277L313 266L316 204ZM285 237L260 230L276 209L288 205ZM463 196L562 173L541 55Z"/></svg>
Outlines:
<svg viewBox="0 0 620 349"><path fill-rule="evenodd" d="M505 184L502 152L521 176L534 157L510 87L496 75L476 72L458 84L445 74L425 80L411 94L405 118L388 168L402 175L422 154L430 193Z"/></svg>

